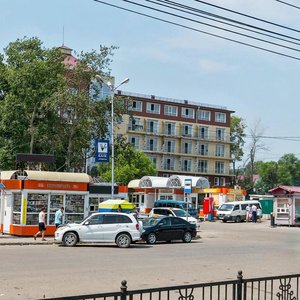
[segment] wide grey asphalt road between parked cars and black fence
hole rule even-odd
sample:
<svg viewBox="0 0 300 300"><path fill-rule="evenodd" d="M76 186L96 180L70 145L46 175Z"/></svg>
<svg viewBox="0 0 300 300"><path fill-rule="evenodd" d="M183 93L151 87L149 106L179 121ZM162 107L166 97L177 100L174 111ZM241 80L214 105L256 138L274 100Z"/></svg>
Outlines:
<svg viewBox="0 0 300 300"><path fill-rule="evenodd" d="M1 246L0 300L38 299L300 273L300 228L201 223L200 239L115 245Z"/></svg>

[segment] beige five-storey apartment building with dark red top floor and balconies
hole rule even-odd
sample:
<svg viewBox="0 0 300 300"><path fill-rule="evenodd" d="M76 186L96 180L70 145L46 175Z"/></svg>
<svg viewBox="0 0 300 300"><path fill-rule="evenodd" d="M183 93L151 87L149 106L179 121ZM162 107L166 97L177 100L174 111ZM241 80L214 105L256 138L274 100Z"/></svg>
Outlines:
<svg viewBox="0 0 300 300"><path fill-rule="evenodd" d="M226 107L117 91L132 99L117 135L126 136L152 160L158 176L207 177L229 185L230 114Z"/></svg>

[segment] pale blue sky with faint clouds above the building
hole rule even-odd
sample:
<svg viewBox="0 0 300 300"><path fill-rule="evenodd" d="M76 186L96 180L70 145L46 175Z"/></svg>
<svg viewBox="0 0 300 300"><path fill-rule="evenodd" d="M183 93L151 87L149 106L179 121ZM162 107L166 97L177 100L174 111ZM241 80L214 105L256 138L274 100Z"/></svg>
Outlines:
<svg viewBox="0 0 300 300"><path fill-rule="evenodd" d="M275 0L207 1L300 30L300 10ZM105 2L171 20L120 0ZM298 32L255 22L197 1L177 2L300 39ZM298 0L288 2L297 5ZM174 18L172 21L300 57L295 51L267 46L204 25ZM300 158L300 60L155 21L92 0L1 0L1 52L9 42L24 36L37 36L45 47L60 46L63 31L64 44L78 52L97 50L99 45L118 46L111 68L116 83L130 78L124 90L226 106L245 119L247 133L260 122L264 136L298 137L297 141L263 139L269 150L261 151L258 159L278 160L286 153Z"/></svg>

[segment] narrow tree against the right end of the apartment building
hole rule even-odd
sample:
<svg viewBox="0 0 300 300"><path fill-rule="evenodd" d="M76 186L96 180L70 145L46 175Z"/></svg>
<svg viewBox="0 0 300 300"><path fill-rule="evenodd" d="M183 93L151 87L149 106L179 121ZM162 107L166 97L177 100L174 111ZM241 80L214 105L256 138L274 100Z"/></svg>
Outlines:
<svg viewBox="0 0 300 300"><path fill-rule="evenodd" d="M245 121L237 116L230 118L230 156L232 161L232 170L235 178L234 184L237 184L238 170L236 169L237 162L241 161L244 155L243 146L245 144L244 138L246 124Z"/></svg>

